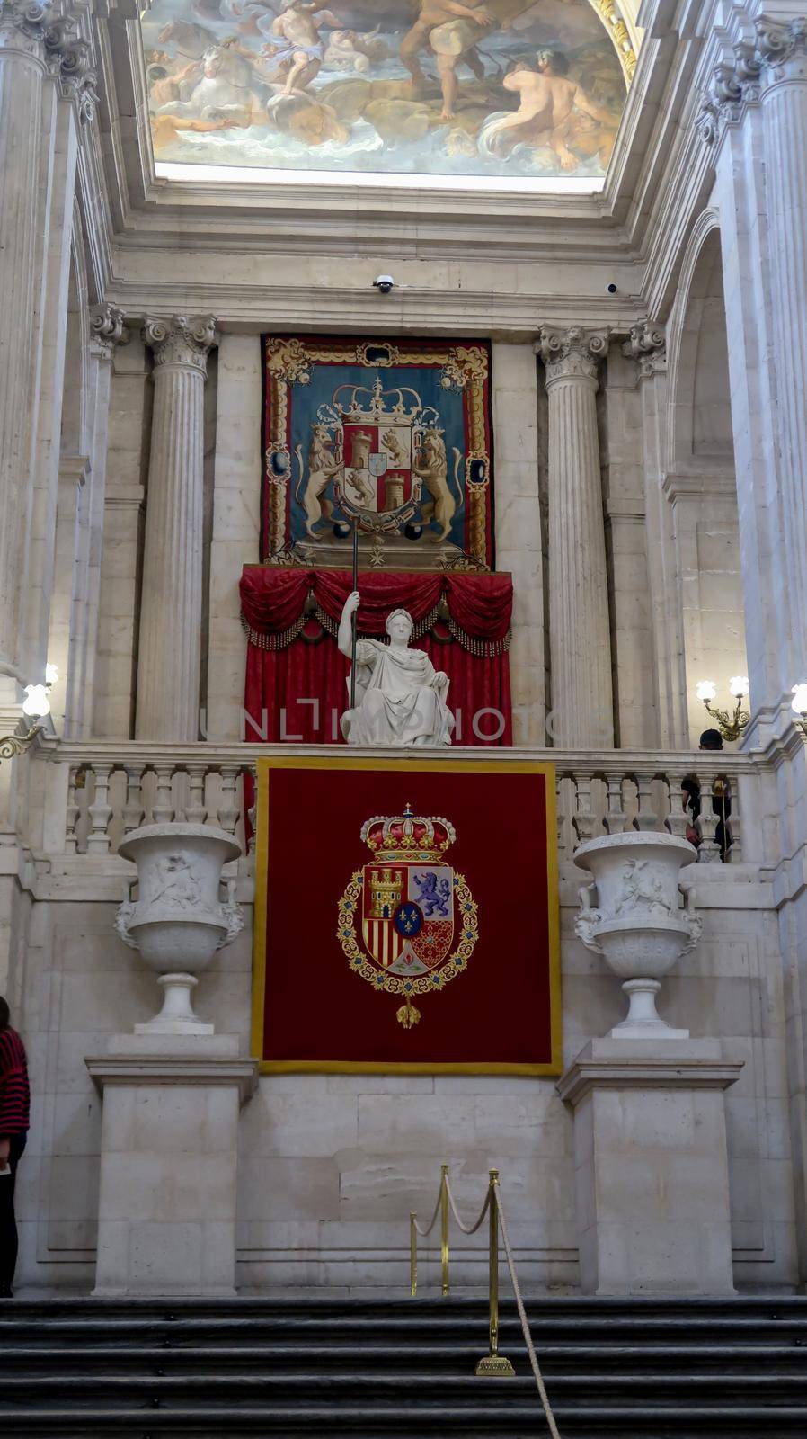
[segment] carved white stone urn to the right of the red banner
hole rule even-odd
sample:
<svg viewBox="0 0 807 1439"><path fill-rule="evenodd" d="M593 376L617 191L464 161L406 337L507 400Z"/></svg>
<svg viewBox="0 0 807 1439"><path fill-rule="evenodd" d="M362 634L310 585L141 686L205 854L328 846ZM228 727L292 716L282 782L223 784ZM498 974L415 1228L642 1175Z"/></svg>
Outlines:
<svg viewBox="0 0 807 1439"><path fill-rule="evenodd" d="M642 830L590 839L574 856L594 878L580 889L575 931L619 974L630 999L626 1019L611 1029L614 1039L689 1038L688 1029L659 1017L656 994L701 938L692 889L680 882L680 869L696 859L689 840Z"/></svg>

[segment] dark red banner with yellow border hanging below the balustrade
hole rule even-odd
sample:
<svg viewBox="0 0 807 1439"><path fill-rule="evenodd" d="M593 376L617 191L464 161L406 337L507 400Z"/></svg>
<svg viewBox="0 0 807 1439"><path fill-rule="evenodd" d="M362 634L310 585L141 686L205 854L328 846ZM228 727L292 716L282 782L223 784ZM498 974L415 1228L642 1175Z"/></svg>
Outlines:
<svg viewBox="0 0 807 1439"><path fill-rule="evenodd" d="M561 1072L555 781L508 760L259 761L266 1072Z"/></svg>

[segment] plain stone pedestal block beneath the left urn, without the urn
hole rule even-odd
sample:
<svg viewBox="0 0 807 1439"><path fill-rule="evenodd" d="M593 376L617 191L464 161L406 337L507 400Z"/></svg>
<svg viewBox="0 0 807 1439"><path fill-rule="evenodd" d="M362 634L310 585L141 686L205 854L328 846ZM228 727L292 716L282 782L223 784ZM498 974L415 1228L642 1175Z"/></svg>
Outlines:
<svg viewBox="0 0 807 1439"><path fill-rule="evenodd" d="M115 1035L104 1095L95 1294L234 1295L240 1107L257 1061L234 1035Z"/></svg>

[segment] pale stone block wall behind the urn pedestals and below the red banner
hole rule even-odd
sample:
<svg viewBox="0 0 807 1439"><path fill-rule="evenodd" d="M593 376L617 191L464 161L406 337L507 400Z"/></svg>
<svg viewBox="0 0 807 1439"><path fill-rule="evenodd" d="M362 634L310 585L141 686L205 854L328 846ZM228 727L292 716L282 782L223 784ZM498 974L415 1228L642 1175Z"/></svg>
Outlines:
<svg viewBox="0 0 807 1439"><path fill-rule="evenodd" d="M795 1284L784 996L770 886L742 866L698 869L701 945L665 981L660 1012L744 1061L726 1097L735 1284ZM564 1063L624 1013L617 980L574 937L577 875L561 876ZM247 892L242 899L247 899ZM157 986L112 932L115 905L35 905L22 1030L33 1084L19 1176L19 1288L94 1284L101 1101L85 1066L157 1007ZM249 927L203 977L196 1007L249 1053ZM305 955L301 953L301 981ZM345 974L345 983L350 976ZM315 1003L315 996L312 997ZM237 1284L406 1294L409 1213L432 1215L440 1164L463 1216L502 1196L528 1289L578 1286L571 1114L551 1078L265 1075L240 1120ZM483 1235L455 1232L453 1278L486 1282ZM439 1282L421 1269L423 1291Z"/></svg>

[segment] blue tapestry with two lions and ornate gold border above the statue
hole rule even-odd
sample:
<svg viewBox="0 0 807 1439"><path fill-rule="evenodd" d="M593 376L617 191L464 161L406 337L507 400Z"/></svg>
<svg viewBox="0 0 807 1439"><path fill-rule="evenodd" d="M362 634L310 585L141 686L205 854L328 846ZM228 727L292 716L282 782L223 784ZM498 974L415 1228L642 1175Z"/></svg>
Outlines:
<svg viewBox="0 0 807 1439"><path fill-rule="evenodd" d="M263 342L263 561L493 568L486 342Z"/></svg>

